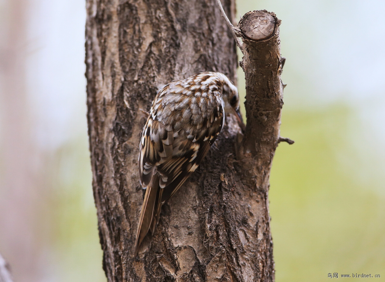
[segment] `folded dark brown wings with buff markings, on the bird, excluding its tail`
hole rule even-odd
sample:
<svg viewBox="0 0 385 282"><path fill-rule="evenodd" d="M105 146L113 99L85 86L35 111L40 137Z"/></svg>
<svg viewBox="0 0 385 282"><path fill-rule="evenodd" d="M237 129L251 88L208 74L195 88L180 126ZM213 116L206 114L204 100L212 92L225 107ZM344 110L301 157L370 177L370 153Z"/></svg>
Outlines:
<svg viewBox="0 0 385 282"><path fill-rule="evenodd" d="M142 186L146 187L154 174L159 173L159 187L164 189L162 203L198 168L216 140L224 119L222 106L218 109L213 113L214 118L204 119L203 126L195 131L186 130L194 124L186 124L183 129L175 131L172 126L149 116L140 146L140 179Z"/></svg>

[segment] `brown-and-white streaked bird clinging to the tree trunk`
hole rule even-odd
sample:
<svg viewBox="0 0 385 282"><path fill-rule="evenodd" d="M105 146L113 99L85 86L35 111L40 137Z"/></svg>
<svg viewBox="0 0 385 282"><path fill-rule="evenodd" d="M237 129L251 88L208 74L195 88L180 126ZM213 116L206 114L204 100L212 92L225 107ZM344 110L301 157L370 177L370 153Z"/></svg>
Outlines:
<svg viewBox="0 0 385 282"><path fill-rule="evenodd" d="M136 232L136 255L154 233L162 204L198 168L221 132L225 113L244 129L236 86L223 73L203 72L161 88L139 144L139 176L146 189Z"/></svg>

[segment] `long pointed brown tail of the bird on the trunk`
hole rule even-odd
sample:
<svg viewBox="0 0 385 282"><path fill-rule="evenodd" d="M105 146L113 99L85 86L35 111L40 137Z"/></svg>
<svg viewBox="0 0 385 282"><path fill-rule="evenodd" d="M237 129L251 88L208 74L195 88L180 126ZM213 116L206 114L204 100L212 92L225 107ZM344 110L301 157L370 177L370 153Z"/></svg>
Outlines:
<svg viewBox="0 0 385 282"><path fill-rule="evenodd" d="M136 231L136 241L135 241L135 255L138 252L139 246L146 236L148 230L153 229L154 222L154 207L158 209L159 205L159 176L154 175L151 179L150 184L146 188L146 195L144 196L144 201L142 205L141 214L139 216L138 229ZM157 213L157 212L156 212ZM156 223L155 223L156 224ZM153 230L152 230L153 231Z"/></svg>

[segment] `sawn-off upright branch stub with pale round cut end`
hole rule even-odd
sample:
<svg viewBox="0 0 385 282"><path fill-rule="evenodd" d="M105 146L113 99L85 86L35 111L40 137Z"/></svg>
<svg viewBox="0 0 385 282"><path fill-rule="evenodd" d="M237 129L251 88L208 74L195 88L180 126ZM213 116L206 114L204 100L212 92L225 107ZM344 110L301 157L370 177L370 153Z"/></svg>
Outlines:
<svg viewBox="0 0 385 282"><path fill-rule="evenodd" d="M240 65L246 78L246 136L244 152L270 164L280 136L283 105L279 25L266 10L246 13L238 23L243 40Z"/></svg>

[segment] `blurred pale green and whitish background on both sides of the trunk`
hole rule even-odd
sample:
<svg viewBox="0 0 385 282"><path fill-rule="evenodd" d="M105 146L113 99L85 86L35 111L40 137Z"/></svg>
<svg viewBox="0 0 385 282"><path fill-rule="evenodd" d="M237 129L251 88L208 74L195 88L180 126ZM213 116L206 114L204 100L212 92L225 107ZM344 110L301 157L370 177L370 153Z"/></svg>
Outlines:
<svg viewBox="0 0 385 282"><path fill-rule="evenodd" d="M271 172L276 281L325 281L335 272L380 281L385 2L238 0L240 15L259 9L282 20L281 136L296 141L279 145ZM106 280L84 24L83 1L0 0L0 253L16 281Z"/></svg>

